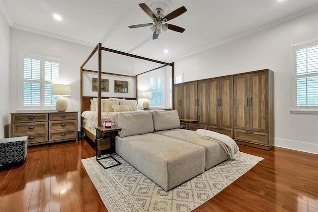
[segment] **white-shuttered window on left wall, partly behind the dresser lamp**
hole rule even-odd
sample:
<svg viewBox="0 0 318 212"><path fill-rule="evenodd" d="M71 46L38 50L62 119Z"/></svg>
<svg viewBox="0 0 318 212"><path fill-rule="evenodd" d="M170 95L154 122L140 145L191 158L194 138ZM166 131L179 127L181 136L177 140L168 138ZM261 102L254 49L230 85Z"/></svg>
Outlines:
<svg viewBox="0 0 318 212"><path fill-rule="evenodd" d="M60 82L61 60L21 54L20 109L54 108L52 85Z"/></svg>

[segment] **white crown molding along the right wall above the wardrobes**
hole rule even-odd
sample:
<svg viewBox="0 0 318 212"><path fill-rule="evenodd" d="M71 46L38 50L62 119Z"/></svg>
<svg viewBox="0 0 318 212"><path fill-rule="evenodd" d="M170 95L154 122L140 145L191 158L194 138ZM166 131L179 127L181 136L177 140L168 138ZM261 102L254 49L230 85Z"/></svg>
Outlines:
<svg viewBox="0 0 318 212"><path fill-rule="evenodd" d="M270 23L267 23L267 24L264 24L262 26L259 26L259 27L256 27L254 29L251 29L249 31L246 31L246 32L243 32L239 35L236 35L234 37L231 37L231 38L228 38L228 39L225 39L225 40L222 40L220 42L217 42L217 43L214 43L210 46L207 46L205 48L202 48L202 49L198 49L196 51L193 51L193 52L190 52L188 54L185 54L185 55L182 55L180 57L177 57L177 58L174 58L172 60L170 60L169 62L174 62L174 61L177 61L177 60L180 60L180 59L183 59L183 58L186 58L186 57L189 57L191 55L194 55L194 54L197 54L197 53L200 53L200 52L203 52L203 51L206 51L208 49L212 49L214 47L217 47L217 46L220 46L222 44L225 44L225 43L229 43L229 42L232 42L234 40L238 40L239 38L242 38L242 37L245 37L247 35L250 35L250 34L254 34L256 32L259 32L259 31L262 31L264 29L267 29L267 28L270 28L272 26L276 26L278 24L281 24L281 23L284 23L284 22L287 22L289 20L292 20L292 19L295 19L295 18L298 18L298 17L301 17L303 15L307 15L309 13L312 13L312 12L315 12L318 10L318 5L315 5L315 6L312 6L312 7L309 7L307 9L304 9L304 10L301 10L299 12L296 12L296 13L293 13L291 15L288 15L288 16L285 16L283 18L280 18L278 20L275 20L275 21L272 21Z"/></svg>

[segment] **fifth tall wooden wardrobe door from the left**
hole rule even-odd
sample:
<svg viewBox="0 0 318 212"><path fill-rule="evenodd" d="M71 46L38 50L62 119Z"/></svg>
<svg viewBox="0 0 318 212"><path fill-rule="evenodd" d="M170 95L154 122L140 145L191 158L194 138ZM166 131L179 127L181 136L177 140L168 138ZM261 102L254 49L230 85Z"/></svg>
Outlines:
<svg viewBox="0 0 318 212"><path fill-rule="evenodd" d="M220 126L219 79L212 79L209 85L209 125Z"/></svg>

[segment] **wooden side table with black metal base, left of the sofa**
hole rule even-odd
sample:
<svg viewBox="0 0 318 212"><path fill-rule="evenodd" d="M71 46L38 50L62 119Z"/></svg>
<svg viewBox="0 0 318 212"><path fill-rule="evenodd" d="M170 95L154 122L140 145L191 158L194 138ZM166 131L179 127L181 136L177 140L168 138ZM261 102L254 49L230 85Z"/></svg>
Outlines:
<svg viewBox="0 0 318 212"><path fill-rule="evenodd" d="M110 156L107 157L103 157L103 158L99 158L101 157L101 150L104 149L111 149L112 147L112 143L114 143L115 145L115 136L117 132L121 131L122 128L116 127L116 126L112 126L111 128L106 128L103 126L98 126L95 127L96 129L96 139L95 139L95 150L96 150L96 161L104 168L104 169L108 169L114 166L118 166L121 163L116 160L112 155L112 151L110 151ZM111 158L114 161L117 162L117 164L112 165L112 166L108 166L105 167L100 160L105 159L105 158Z"/></svg>

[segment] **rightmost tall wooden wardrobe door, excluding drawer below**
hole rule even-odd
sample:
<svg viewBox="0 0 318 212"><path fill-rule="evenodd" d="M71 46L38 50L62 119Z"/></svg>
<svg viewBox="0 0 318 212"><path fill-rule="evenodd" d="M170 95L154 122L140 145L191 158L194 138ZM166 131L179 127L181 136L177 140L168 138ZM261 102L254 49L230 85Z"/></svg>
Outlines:
<svg viewBox="0 0 318 212"><path fill-rule="evenodd" d="M268 131L268 72L250 74L250 130Z"/></svg>

